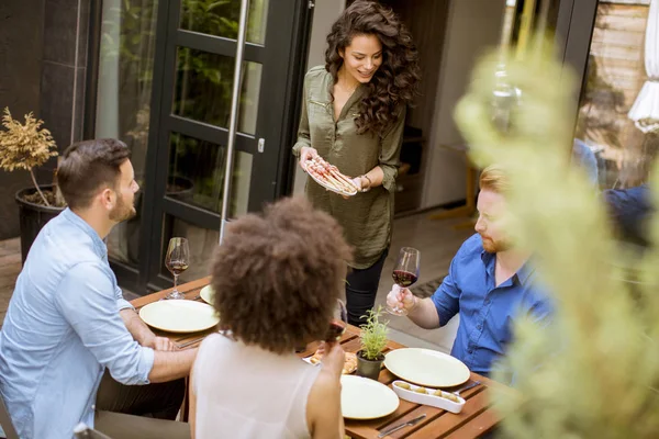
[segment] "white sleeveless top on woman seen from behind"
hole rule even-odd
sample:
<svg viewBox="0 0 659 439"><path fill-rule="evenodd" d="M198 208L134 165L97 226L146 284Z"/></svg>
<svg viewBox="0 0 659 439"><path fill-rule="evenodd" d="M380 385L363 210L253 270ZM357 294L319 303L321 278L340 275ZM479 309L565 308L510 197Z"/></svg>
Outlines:
<svg viewBox="0 0 659 439"><path fill-rule="evenodd" d="M310 438L306 399L321 368L220 334L194 362L197 438Z"/></svg>

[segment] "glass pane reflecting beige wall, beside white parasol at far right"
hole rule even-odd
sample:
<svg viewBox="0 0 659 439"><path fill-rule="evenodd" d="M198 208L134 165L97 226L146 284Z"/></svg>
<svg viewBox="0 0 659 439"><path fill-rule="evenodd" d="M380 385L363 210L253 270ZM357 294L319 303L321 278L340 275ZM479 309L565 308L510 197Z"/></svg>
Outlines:
<svg viewBox="0 0 659 439"><path fill-rule="evenodd" d="M645 182L659 146L657 136L644 134L628 114L647 79L644 42L649 7L640 3L597 5L574 155L594 156L596 165L591 168L602 189Z"/></svg>

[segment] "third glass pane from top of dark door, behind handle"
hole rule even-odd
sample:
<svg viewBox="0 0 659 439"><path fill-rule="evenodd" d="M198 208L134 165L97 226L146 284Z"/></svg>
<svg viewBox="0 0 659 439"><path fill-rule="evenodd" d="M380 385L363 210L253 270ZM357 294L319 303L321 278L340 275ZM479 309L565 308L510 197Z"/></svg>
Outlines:
<svg viewBox="0 0 659 439"><path fill-rule="evenodd" d="M167 196L220 213L224 192L225 145L179 133L170 136ZM247 213L252 155L234 154L230 216Z"/></svg>

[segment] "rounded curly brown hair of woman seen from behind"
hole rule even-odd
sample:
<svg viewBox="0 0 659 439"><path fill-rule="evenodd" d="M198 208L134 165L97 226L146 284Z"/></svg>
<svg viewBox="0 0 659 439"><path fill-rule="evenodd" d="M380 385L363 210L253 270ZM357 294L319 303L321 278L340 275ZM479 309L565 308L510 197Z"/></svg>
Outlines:
<svg viewBox="0 0 659 439"><path fill-rule="evenodd" d="M304 199L231 222L211 267L221 327L276 353L324 339L350 257L338 223Z"/></svg>

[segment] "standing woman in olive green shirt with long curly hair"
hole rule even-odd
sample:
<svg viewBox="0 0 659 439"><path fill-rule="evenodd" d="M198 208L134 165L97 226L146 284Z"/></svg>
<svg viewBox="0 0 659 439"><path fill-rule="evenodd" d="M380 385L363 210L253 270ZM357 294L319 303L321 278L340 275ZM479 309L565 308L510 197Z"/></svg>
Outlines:
<svg viewBox="0 0 659 439"><path fill-rule="evenodd" d="M343 198L308 181L306 196L333 215L355 249L346 279L348 319L376 301L391 241L393 195L403 139L405 111L420 79L410 32L393 12L373 1L347 8L327 35L325 66L304 78L304 101L293 154L305 169L321 156L359 192Z"/></svg>

